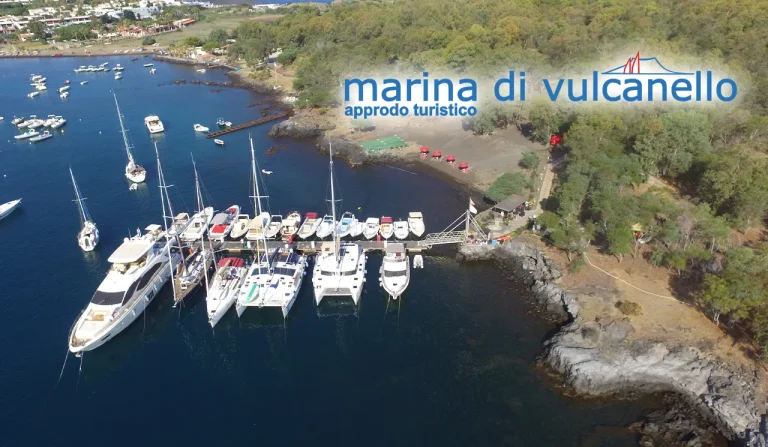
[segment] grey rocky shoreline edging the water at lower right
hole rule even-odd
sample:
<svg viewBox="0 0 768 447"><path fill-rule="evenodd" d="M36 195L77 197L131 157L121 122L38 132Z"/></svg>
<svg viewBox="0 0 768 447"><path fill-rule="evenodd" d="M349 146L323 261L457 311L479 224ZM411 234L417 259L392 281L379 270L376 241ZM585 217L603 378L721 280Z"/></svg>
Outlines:
<svg viewBox="0 0 768 447"><path fill-rule="evenodd" d="M760 433L762 411L755 398L758 383L754 374L696 348L630 341L627 336L633 328L627 320L585 321L579 315L580 303L590 297L562 290L557 284L562 276L560 268L529 244L511 241L496 247L465 245L458 257L463 261L494 261L511 271L534 293L539 307L562 323L560 330L544 343L541 361L562 375L578 394L673 392L698 410L704 425L711 421L729 439L766 445ZM679 437L669 433L686 431L687 425L681 421L688 421L691 415L682 410L673 413L646 421L641 427L661 439ZM671 422L676 425L670 426ZM654 425L648 425L651 423ZM691 436L703 436L692 428L688 431ZM700 441L685 445L704 442Z"/></svg>

